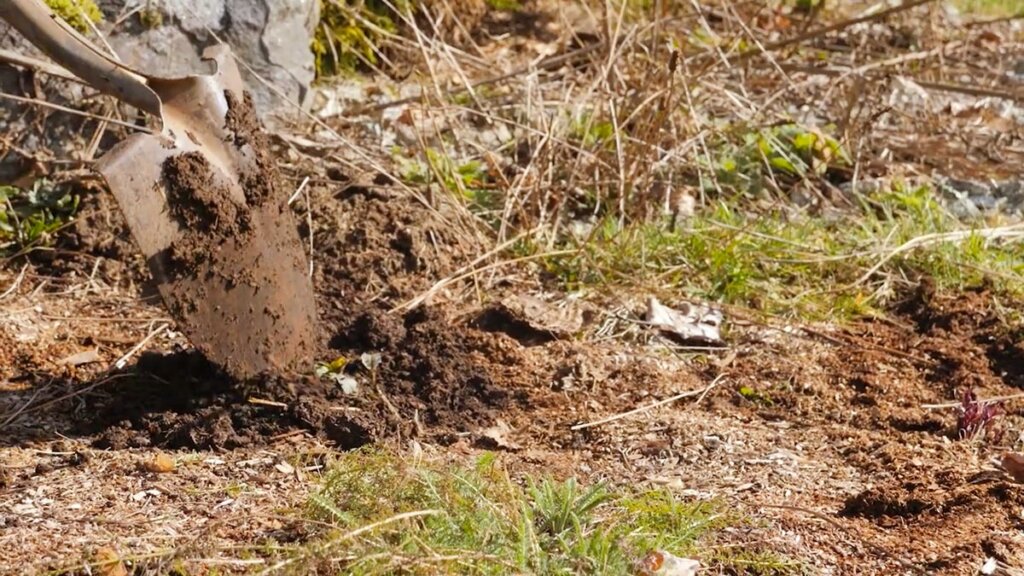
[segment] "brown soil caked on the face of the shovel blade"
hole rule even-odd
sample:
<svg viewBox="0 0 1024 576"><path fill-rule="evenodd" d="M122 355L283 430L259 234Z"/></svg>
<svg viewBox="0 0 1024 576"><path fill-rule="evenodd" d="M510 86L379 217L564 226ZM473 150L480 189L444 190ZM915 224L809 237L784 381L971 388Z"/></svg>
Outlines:
<svg viewBox="0 0 1024 576"><path fill-rule="evenodd" d="M163 180L181 234L152 268L191 343L225 372L301 369L316 322L305 250L252 102L227 101L241 194L222 171L232 168L215 169L206 153L169 158Z"/></svg>

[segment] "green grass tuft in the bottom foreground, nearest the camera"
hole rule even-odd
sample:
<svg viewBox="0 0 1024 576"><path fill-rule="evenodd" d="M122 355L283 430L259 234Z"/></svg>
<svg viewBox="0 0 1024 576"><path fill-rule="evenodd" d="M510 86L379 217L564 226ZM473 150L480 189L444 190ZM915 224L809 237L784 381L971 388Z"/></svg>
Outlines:
<svg viewBox="0 0 1024 576"><path fill-rule="evenodd" d="M523 486L494 455L466 466L346 453L307 516L322 533L291 557L294 573L621 575L652 549L736 573L800 571L756 547L718 545L746 524L722 502L574 480Z"/></svg>

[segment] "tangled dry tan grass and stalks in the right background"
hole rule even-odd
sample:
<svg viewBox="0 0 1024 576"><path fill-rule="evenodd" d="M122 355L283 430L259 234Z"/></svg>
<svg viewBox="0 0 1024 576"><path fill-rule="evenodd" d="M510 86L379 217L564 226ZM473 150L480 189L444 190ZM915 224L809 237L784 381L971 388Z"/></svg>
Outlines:
<svg viewBox="0 0 1024 576"><path fill-rule="evenodd" d="M1006 23L965 26L922 0L810 13L792 3L537 2L481 25L522 23L512 37L520 54L508 58L504 38L467 42L438 25L458 20L456 4L425 3L419 17L396 16L401 35L383 34L382 53L420 71L418 96L371 97L328 122L429 201L462 206L476 230L467 242L487 255L479 273L465 275L474 282L486 286L524 262L534 273L529 262L541 260L561 289L625 284L841 318L851 301L854 315L884 306L894 285L920 276L952 288L1024 280L1012 245L982 243L984 254L956 256L963 240L992 234L969 231L1002 222L945 213L934 183L1012 177L1024 154L1008 128L1019 111L997 97L1011 66L1002 54L1018 34ZM385 93L397 87L376 82ZM383 138L370 137L381 125ZM940 215L879 207L906 191ZM707 234L723 209L730 225L793 248L754 242L752 258L762 249L779 260L822 258L835 263L837 282L856 289L818 285L815 266L752 272L751 262L716 254L739 235ZM782 223L765 227L762 217ZM837 237L843 227L857 233ZM691 231L711 253L685 245ZM918 247L916 236L931 240ZM897 254L907 257L886 255L906 242ZM653 275L648 245L663 250L652 255ZM565 250L577 252L545 257ZM494 258L516 264L499 269ZM730 268L792 290L765 304L750 294L761 286L736 292L701 282ZM664 282L672 270L680 279ZM594 280L578 281L585 277ZM813 301L794 304L797 294Z"/></svg>

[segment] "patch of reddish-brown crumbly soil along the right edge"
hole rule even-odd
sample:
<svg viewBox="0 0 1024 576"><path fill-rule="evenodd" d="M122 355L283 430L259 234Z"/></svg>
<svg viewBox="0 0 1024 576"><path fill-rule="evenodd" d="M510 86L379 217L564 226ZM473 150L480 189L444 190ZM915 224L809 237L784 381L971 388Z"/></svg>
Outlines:
<svg viewBox="0 0 1024 576"><path fill-rule="evenodd" d="M936 295L926 281L891 320L838 334L846 344L817 358L816 366L779 363L770 348L738 358L731 368L737 385L764 400L735 395L733 403L755 417L820 429L842 447L846 463L869 482L837 512L879 530L864 538L905 558L939 559L922 565L929 573L973 573L987 553L986 534L1022 526L1017 502L1024 487L984 471L991 467L986 460L1012 449L1013 439L961 440L955 409L923 405L961 398L966 389L979 398L1019 389L1021 338L1001 320L997 300L983 288ZM765 382L776 384L766 388ZM995 424L1018 428L1018 406L1005 406Z"/></svg>

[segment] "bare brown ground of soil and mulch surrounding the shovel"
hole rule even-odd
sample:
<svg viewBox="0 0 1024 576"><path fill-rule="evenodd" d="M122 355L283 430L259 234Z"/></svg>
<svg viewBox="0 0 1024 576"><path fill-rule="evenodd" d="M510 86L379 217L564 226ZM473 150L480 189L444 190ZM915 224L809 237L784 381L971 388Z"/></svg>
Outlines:
<svg viewBox="0 0 1024 576"><path fill-rule="evenodd" d="M490 26L499 40L501 30L534 30L516 17ZM493 40L484 53L546 45L514 41L528 37ZM400 118L399 141L413 122ZM259 573L272 564L253 547L301 542L310 526L296 510L333 454L368 445L497 451L516 476L722 499L757 523L732 542L793 559L795 572L973 574L987 559L1006 574L1024 567L1024 485L997 465L1020 443L1019 405L1004 407L1001 435L973 441L957 438L954 408L928 407L965 389L993 398L1024 386L1024 307L1006 290L901 278L871 314L842 323L756 314L752 298L752 308L722 305L723 345L681 346L643 325L636 286L569 292L528 256L501 275L483 270L495 243L481 248L465 203L355 173L294 132L279 136L281 193L313 176L308 220L295 205L314 247L310 352L347 366L337 381L221 375L145 288L113 200L88 193L56 235L55 257L0 269L0 572L75 571L110 548L165 571ZM907 159L909 173L976 175L947 162L957 154ZM327 168L310 167L317 155ZM543 212L546 200L523 194ZM691 293L676 289L666 303ZM343 389L345 374L357 393ZM687 390L702 392L597 422ZM161 471L161 455L173 471Z"/></svg>

